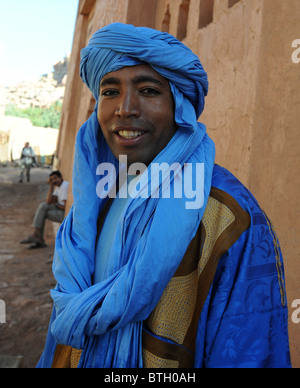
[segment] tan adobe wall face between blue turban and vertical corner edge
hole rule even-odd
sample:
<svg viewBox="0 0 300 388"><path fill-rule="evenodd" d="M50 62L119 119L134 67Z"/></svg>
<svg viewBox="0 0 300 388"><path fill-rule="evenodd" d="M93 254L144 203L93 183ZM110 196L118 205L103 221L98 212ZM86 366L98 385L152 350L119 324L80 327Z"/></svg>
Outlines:
<svg viewBox="0 0 300 388"><path fill-rule="evenodd" d="M216 3L214 20L193 32L185 43L195 51L209 78L209 93L200 121L216 143L216 162L249 186L253 109L260 50L262 0L239 2L233 8Z"/></svg>

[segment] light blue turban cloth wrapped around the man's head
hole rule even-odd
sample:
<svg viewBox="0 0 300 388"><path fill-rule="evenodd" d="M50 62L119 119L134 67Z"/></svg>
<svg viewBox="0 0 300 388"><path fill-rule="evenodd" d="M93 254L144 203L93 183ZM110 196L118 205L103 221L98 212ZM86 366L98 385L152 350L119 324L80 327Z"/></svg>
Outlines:
<svg viewBox="0 0 300 388"><path fill-rule="evenodd" d="M199 58L167 33L121 23L104 27L82 50L80 75L98 100L100 81L107 73L139 61L176 85L200 116L208 91L207 74Z"/></svg>

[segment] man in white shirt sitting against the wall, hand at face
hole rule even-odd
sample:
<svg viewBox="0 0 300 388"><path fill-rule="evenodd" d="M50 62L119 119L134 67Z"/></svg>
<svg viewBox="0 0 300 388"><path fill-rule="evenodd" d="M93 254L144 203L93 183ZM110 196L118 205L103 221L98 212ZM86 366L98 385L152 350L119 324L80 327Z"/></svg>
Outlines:
<svg viewBox="0 0 300 388"><path fill-rule="evenodd" d="M53 171L48 179L49 191L46 202L42 202L35 212L33 219L34 232L21 244L32 244L29 249L46 247L44 227L46 219L62 222L65 216L65 207L68 198L69 182L64 181L60 171Z"/></svg>

